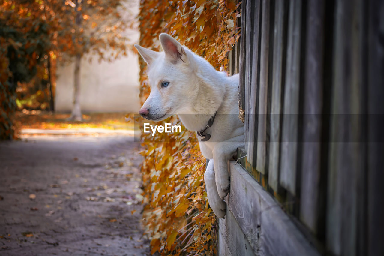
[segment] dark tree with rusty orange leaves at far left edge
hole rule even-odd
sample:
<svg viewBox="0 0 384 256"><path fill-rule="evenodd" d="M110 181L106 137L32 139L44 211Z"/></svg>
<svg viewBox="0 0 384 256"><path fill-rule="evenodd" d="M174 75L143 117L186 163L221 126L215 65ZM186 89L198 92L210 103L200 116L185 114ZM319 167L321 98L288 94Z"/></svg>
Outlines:
<svg viewBox="0 0 384 256"><path fill-rule="evenodd" d="M30 81L44 68L58 30L55 15L38 1L5 0L0 3L0 139L12 139L19 82Z"/></svg>

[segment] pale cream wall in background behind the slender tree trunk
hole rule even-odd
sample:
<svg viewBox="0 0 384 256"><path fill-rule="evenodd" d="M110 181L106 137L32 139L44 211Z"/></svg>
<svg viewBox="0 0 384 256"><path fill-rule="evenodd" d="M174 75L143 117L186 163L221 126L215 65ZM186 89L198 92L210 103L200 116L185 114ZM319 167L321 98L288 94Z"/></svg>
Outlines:
<svg viewBox="0 0 384 256"><path fill-rule="evenodd" d="M136 15L139 2L132 10ZM136 9L137 8L137 9ZM139 31L127 32L131 42L139 42ZM57 66L55 111L70 112L73 102L74 64ZM139 61L138 56L128 52L127 57L113 62L98 62L95 56L91 63L82 59L81 110L83 112L138 112Z"/></svg>

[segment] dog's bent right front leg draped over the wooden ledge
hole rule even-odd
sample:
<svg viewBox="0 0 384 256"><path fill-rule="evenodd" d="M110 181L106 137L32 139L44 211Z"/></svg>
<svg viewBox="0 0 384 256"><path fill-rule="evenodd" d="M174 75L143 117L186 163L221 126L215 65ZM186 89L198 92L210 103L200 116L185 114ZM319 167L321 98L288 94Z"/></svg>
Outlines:
<svg viewBox="0 0 384 256"><path fill-rule="evenodd" d="M222 199L227 196L230 188L228 161L236 153L237 148L244 145L243 141L243 135L231 138L217 143L213 150L217 192Z"/></svg>

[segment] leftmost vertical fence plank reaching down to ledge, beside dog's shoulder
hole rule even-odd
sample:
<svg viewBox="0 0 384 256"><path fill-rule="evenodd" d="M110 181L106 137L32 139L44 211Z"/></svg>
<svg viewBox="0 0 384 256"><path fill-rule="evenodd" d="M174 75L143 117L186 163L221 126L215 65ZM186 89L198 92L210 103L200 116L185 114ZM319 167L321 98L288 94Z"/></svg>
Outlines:
<svg viewBox="0 0 384 256"><path fill-rule="evenodd" d="M253 8L254 20L252 30L252 44L250 47L253 48L251 57L252 66L249 67L250 71L250 86L248 94L250 96L249 104L246 108L246 118L248 118L248 126L246 127L246 148L248 157L247 161L252 165L256 166L256 155L257 155L257 107L258 107L258 84L259 84L259 71L258 65L260 61L260 39L261 39L261 12L262 12L262 0L251 1L255 5ZM247 95L247 91L246 91Z"/></svg>

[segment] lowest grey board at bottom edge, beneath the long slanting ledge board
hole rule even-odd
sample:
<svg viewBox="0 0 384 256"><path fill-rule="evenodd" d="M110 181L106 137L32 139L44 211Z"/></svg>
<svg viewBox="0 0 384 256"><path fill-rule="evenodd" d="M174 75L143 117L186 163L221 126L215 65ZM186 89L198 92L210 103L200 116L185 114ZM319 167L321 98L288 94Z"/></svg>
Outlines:
<svg viewBox="0 0 384 256"><path fill-rule="evenodd" d="M223 240L228 248L220 249L224 254L218 252L217 255L233 255L233 256L254 256L252 247L248 240L245 238L243 231L237 224L232 212L227 209L225 219L218 221L219 233L221 233ZM221 246L221 245L220 245ZM228 253L229 251L229 253Z"/></svg>

